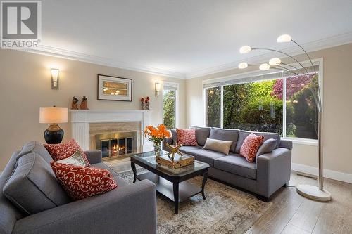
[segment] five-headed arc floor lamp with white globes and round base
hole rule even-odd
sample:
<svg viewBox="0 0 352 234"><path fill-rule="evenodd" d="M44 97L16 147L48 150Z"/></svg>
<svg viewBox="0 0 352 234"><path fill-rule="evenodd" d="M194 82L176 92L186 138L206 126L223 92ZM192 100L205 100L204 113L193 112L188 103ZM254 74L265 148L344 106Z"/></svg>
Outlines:
<svg viewBox="0 0 352 234"><path fill-rule="evenodd" d="M310 56L308 53L304 50L304 48L298 44L296 41L291 39L291 36L288 34L283 34L277 38L277 42L293 42L296 44L299 48L302 49L302 51L306 54L308 57L310 64L313 66L314 70L314 76L317 77L318 74L315 71L315 67L313 65L312 60L310 59ZM272 58L269 60L269 63L263 63L259 66L260 70L270 70L270 69L275 69L275 70L283 70L285 72L290 72L296 76L299 76L299 74L304 75L306 77L310 77L310 74L307 70L306 67L302 65L294 56L289 55L288 53L284 53L283 51L275 50L272 48L253 48L251 46L242 46L239 49L240 53L249 53L250 51L254 50L265 50L265 51L274 51L277 53L281 53L284 56L287 56L288 58L293 59L299 67L295 67L293 65L289 65L286 63L282 63L282 61L279 58ZM244 69L248 67L248 63L242 62L239 63L239 68ZM318 109L318 157L319 157L319 173L318 173L318 187L317 186L310 186L310 185L298 185L297 186L297 193L300 195L303 195L304 197L308 197L313 200L319 200L319 201L329 201L331 200L331 194L327 191L324 190L324 177L323 177L323 151L322 151L322 100L320 96L320 87L319 87L319 82L318 82L318 89L315 87L310 88L313 94L313 98L315 100L315 104Z"/></svg>

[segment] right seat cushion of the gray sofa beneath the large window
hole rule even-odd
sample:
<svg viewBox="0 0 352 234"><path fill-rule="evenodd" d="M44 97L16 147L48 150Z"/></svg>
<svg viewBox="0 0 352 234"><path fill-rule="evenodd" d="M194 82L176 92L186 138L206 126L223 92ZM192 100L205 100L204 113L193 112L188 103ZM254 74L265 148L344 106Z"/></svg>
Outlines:
<svg viewBox="0 0 352 234"><path fill-rule="evenodd" d="M244 157L241 157L238 154L231 154L215 159L214 167L216 169L227 171L238 176L256 179L257 164L247 162Z"/></svg>

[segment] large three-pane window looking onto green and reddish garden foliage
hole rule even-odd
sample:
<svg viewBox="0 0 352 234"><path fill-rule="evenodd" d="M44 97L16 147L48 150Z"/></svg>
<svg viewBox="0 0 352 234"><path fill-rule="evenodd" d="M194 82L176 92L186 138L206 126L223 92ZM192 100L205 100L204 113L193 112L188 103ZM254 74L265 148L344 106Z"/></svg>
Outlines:
<svg viewBox="0 0 352 234"><path fill-rule="evenodd" d="M260 77L205 86L206 125L318 139L313 94L318 91L318 77L282 73Z"/></svg>

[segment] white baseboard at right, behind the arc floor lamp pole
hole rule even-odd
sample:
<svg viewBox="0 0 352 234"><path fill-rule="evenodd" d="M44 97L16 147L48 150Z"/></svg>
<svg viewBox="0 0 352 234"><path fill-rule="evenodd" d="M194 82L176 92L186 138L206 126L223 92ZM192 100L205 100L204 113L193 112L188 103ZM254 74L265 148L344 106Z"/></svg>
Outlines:
<svg viewBox="0 0 352 234"><path fill-rule="evenodd" d="M318 176L318 167L310 167L303 164L292 163L291 169L293 171L298 171L306 174L311 174L313 176ZM352 183L352 174L347 174L339 171L324 169L324 177L332 178L333 180L337 180L337 181Z"/></svg>

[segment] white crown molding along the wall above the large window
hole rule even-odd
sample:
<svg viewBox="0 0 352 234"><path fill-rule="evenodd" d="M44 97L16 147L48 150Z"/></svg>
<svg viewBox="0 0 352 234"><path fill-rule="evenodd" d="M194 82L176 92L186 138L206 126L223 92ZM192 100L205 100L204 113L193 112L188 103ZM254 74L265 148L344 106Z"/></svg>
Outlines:
<svg viewBox="0 0 352 234"><path fill-rule="evenodd" d="M312 52L312 51L319 51L325 48L331 48L334 46L341 46L343 44L349 44L351 42L352 42L352 32L347 32L344 34L335 35L333 37L327 37L325 39L311 41L306 44L302 44L302 46L307 52ZM298 54L303 53L301 48L299 48L298 46L284 48L281 51L283 51L284 53L289 53L291 56L296 56ZM275 56L275 54L277 55L277 53L275 52L263 53L263 54L260 54L259 56L252 56L249 58L236 60L231 63L226 63L215 67L209 67L207 69L199 70L197 72L191 72L189 74L186 74L186 79L203 77L208 74L215 74L218 72L225 72L228 70L237 69L238 64L243 62L244 60L246 60L247 63L263 63L263 61L269 60L270 58Z"/></svg>

